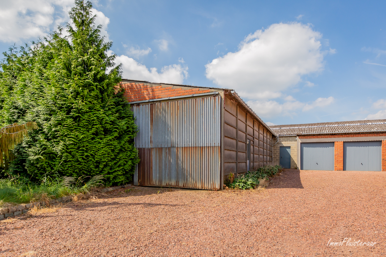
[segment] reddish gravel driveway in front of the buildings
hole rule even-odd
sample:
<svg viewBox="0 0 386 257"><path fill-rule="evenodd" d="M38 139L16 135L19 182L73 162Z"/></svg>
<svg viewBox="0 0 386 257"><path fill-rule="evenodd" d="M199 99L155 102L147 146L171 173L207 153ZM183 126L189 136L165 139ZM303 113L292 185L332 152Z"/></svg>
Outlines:
<svg viewBox="0 0 386 257"><path fill-rule="evenodd" d="M385 186L286 170L263 190L120 189L1 222L0 256L386 256ZM345 238L376 244L327 246Z"/></svg>

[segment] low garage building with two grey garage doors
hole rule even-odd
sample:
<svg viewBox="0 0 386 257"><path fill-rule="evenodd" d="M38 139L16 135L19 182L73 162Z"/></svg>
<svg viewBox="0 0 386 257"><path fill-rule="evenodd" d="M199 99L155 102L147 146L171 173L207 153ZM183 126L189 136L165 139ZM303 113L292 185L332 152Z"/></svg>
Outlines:
<svg viewBox="0 0 386 257"><path fill-rule="evenodd" d="M386 119L270 126L273 161L301 170L386 171Z"/></svg>

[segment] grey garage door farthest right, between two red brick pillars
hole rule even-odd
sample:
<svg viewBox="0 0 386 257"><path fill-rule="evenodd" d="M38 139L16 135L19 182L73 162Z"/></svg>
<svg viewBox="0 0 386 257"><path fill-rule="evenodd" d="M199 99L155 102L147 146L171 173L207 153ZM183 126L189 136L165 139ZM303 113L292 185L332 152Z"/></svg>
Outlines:
<svg viewBox="0 0 386 257"><path fill-rule="evenodd" d="M343 170L381 171L382 141L343 142Z"/></svg>

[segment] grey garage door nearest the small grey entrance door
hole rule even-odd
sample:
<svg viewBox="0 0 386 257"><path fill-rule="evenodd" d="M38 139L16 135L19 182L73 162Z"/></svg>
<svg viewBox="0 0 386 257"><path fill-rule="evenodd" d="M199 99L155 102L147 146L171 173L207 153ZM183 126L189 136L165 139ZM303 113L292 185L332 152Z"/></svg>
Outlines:
<svg viewBox="0 0 386 257"><path fill-rule="evenodd" d="M334 142L301 143L301 170L334 170Z"/></svg>

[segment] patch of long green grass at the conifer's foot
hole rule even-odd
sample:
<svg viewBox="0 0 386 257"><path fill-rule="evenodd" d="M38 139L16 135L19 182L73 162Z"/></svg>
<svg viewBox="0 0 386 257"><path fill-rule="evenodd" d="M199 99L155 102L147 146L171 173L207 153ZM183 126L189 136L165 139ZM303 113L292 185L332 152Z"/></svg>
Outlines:
<svg viewBox="0 0 386 257"><path fill-rule="evenodd" d="M91 188L102 185L102 179L101 175L78 179L45 175L38 183L16 178L0 179L0 207L86 194Z"/></svg>

